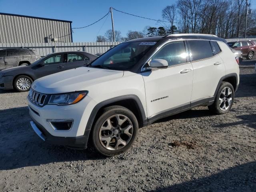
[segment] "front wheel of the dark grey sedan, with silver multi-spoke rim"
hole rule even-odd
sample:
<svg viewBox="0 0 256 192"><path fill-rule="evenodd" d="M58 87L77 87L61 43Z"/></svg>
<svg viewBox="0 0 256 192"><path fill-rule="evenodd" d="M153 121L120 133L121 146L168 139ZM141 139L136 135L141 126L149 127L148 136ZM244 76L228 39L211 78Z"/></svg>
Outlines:
<svg viewBox="0 0 256 192"><path fill-rule="evenodd" d="M20 75L15 78L13 86L18 92L27 92L31 88L33 80L26 75Z"/></svg>

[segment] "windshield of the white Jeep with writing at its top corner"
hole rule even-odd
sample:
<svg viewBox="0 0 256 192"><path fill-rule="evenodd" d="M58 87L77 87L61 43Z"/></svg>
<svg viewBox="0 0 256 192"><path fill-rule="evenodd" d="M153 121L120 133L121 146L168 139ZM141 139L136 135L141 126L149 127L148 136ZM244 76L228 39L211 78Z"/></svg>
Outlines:
<svg viewBox="0 0 256 192"><path fill-rule="evenodd" d="M132 68L156 42L124 42L90 64L90 67L112 70Z"/></svg>

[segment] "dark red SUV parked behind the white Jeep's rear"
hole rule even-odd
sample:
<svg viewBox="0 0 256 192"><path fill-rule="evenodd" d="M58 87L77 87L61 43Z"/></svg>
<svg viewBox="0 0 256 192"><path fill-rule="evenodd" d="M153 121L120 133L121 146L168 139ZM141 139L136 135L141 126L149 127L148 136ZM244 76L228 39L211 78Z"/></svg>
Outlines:
<svg viewBox="0 0 256 192"><path fill-rule="evenodd" d="M256 45L253 41L230 41L228 46L235 50L240 50L242 56L247 59L252 59L256 50Z"/></svg>

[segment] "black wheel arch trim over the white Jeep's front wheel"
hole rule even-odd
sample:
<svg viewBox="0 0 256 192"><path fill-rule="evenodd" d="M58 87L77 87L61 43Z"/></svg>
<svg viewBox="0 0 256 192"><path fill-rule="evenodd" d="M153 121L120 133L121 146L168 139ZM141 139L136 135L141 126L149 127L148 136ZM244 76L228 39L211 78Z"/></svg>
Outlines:
<svg viewBox="0 0 256 192"><path fill-rule="evenodd" d="M85 131L84 131L84 134L88 134L88 130L90 130L93 126L93 123L94 123L94 120L95 120L95 117L98 113L98 111L104 107L104 106L107 106L111 103L114 103L114 102L119 102L119 101L123 101L123 100L128 100L128 99L132 99L136 102L137 106L138 106L138 110L139 110L139 115L141 115L141 118L142 118L142 121L143 123L147 122L147 118L146 118L146 114L145 114L145 110L144 110L144 107L142 105L142 102L140 101L140 99L138 98L138 96L136 95L133 95L133 94L129 94L129 95L124 95L124 96L118 96L118 97L115 97L115 98L111 98L111 99L108 99L108 100L105 100L105 101L102 101L100 103L98 103L92 110L91 114L90 114L90 117L88 119L88 122L86 124L86 128L85 128ZM86 132L87 131L87 132Z"/></svg>

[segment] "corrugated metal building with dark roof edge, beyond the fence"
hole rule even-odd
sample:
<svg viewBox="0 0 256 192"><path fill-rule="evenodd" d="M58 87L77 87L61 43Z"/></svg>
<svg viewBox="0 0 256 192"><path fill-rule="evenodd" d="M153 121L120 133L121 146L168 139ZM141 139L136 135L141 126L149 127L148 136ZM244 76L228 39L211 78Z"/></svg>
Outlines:
<svg viewBox="0 0 256 192"><path fill-rule="evenodd" d="M72 21L0 13L0 43L73 42Z"/></svg>

